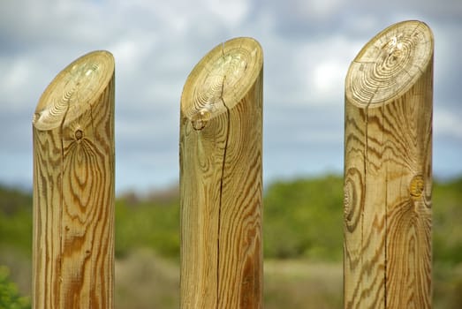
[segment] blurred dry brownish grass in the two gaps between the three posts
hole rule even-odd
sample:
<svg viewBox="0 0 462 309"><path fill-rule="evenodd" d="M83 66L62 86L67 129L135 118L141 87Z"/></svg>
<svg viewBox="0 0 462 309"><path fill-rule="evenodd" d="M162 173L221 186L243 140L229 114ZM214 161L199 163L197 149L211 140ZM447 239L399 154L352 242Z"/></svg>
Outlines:
<svg viewBox="0 0 462 309"><path fill-rule="evenodd" d="M339 308L341 264L300 260L265 261L264 307ZM149 250L116 262L116 308L178 308L178 264Z"/></svg>

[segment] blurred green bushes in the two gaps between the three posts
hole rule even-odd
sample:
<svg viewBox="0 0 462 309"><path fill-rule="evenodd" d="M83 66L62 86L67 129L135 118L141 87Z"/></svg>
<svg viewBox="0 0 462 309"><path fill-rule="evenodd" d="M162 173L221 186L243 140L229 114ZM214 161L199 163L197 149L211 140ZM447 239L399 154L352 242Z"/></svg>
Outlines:
<svg viewBox="0 0 462 309"><path fill-rule="evenodd" d="M269 259L342 259L342 179L278 182L264 197L264 256ZM167 258L179 253L178 191L169 199L117 200L116 253L150 247Z"/></svg>

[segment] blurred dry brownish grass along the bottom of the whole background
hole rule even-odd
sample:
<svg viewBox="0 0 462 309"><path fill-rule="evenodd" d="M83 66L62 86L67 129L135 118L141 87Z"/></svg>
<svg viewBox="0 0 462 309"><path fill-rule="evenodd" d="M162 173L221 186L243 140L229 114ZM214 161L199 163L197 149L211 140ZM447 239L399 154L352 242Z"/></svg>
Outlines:
<svg viewBox="0 0 462 309"><path fill-rule="evenodd" d="M1 249L0 265L10 268L21 295L30 295L30 257ZM433 275L433 307L462 308L462 263L458 267L435 265ZM264 276L265 309L342 307L341 263L265 260ZM116 309L178 308L178 278L178 261L160 258L150 249L133 250L116 260Z"/></svg>

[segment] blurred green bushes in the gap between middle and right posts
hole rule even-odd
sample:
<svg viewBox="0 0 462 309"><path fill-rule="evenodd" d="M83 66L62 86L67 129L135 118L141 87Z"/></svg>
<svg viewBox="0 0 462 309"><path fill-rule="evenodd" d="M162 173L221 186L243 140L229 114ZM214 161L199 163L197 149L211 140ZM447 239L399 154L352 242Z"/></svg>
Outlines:
<svg viewBox="0 0 462 309"><path fill-rule="evenodd" d="M342 178L277 182L269 186L263 205L266 258L342 259Z"/></svg>

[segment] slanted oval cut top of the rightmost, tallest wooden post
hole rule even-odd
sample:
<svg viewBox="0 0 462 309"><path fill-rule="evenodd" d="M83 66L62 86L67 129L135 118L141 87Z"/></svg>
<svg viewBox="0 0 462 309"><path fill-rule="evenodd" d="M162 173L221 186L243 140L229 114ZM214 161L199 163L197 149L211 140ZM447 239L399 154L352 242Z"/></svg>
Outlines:
<svg viewBox="0 0 462 309"><path fill-rule="evenodd" d="M380 106L405 94L433 59L430 28L418 20L399 22L368 41L345 79L345 97L354 105Z"/></svg>

